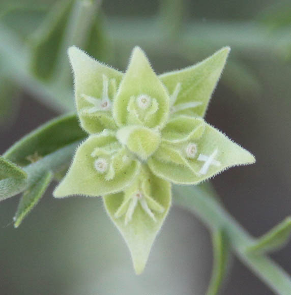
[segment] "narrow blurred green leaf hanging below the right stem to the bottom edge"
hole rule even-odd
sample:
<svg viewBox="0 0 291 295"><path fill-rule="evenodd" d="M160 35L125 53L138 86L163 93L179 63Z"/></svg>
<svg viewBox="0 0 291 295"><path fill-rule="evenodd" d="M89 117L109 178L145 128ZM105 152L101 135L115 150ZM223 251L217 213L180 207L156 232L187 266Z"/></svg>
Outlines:
<svg viewBox="0 0 291 295"><path fill-rule="evenodd" d="M226 275L229 260L229 245L223 229L220 228L212 232L212 244L214 262L207 295L218 294Z"/></svg>

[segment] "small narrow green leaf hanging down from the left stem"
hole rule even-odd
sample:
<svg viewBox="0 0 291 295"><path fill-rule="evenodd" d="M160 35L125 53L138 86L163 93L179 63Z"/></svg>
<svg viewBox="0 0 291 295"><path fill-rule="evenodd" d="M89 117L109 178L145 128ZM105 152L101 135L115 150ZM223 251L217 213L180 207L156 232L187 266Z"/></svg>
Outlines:
<svg viewBox="0 0 291 295"><path fill-rule="evenodd" d="M49 186L52 176L53 174L50 171L45 172L34 185L23 193L14 217L14 227L18 227L24 217L36 206Z"/></svg>

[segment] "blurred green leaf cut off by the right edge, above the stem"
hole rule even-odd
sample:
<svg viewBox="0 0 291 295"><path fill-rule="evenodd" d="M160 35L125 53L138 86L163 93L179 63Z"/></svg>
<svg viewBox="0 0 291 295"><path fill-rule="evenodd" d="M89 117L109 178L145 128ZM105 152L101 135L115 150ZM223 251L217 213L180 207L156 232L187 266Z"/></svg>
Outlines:
<svg viewBox="0 0 291 295"><path fill-rule="evenodd" d="M257 239L254 245L247 248L247 251L252 253L265 253L278 250L288 242L290 233L291 217L287 217L261 238Z"/></svg>

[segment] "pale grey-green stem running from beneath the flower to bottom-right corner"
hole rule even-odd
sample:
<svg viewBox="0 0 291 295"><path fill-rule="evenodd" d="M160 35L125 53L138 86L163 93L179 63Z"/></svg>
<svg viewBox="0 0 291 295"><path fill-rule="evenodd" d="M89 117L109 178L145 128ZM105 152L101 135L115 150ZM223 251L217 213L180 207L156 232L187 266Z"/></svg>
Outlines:
<svg viewBox="0 0 291 295"><path fill-rule="evenodd" d="M246 248L254 238L223 208L221 203L199 187L174 187L176 204L190 210L211 229L223 228L230 247L238 258L263 280L276 294L291 294L290 276L263 254L250 254Z"/></svg>

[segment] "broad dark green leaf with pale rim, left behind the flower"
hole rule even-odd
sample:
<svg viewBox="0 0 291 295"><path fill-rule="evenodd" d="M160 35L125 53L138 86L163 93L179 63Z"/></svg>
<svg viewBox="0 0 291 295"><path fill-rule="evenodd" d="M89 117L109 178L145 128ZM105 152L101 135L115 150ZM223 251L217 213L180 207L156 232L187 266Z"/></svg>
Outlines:
<svg viewBox="0 0 291 295"><path fill-rule="evenodd" d="M31 159L34 156L44 157L86 136L86 133L79 127L75 114L57 117L12 145L4 157L18 165L25 166L32 162Z"/></svg>

